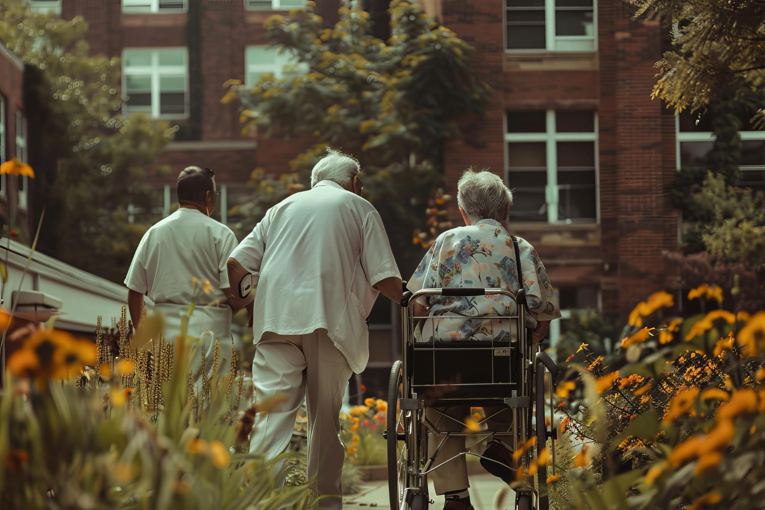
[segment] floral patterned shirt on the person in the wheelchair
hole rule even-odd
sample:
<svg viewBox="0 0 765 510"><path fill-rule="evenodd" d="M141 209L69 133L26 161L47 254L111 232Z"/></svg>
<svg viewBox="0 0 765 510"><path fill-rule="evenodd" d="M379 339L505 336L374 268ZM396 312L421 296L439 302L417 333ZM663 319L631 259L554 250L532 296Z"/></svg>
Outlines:
<svg viewBox="0 0 765 510"><path fill-rule="evenodd" d="M536 250L524 239L516 239L526 291L526 325L533 328L537 320L561 317L558 296ZM409 279L407 288L415 292L440 287L499 287L517 292L516 252L505 227L493 219L481 219L474 225L457 227L438 236ZM428 296L421 297L420 302L430 307L429 314L434 317L513 316L517 313L515 301L504 294ZM513 329L507 320L442 318L425 321L416 335L418 341L507 340Z"/></svg>

